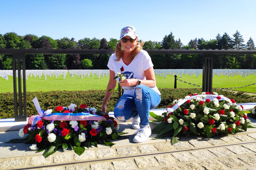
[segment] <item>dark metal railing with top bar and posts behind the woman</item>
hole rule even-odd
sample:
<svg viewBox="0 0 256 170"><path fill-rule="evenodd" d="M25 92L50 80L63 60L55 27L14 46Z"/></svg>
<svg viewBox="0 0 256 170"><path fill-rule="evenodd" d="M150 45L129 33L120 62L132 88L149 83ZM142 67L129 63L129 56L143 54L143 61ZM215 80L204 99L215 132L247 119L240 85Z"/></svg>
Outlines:
<svg viewBox="0 0 256 170"><path fill-rule="evenodd" d="M26 75L26 54L113 54L113 49L14 49L0 48L0 54L12 55L13 67L13 94L14 94L14 118L15 121L27 121L27 95L26 95L26 79L21 78L22 74ZM202 54L203 55L203 88L202 91L212 92L212 70L214 54L256 54L256 50L218 50L218 49L147 49L150 54ZM18 71L18 91L17 76ZM23 86L22 86L23 85ZM23 90L23 92L22 92ZM18 94L17 94L18 93ZM19 111L18 111L19 100ZM22 110L23 105L23 110Z"/></svg>

